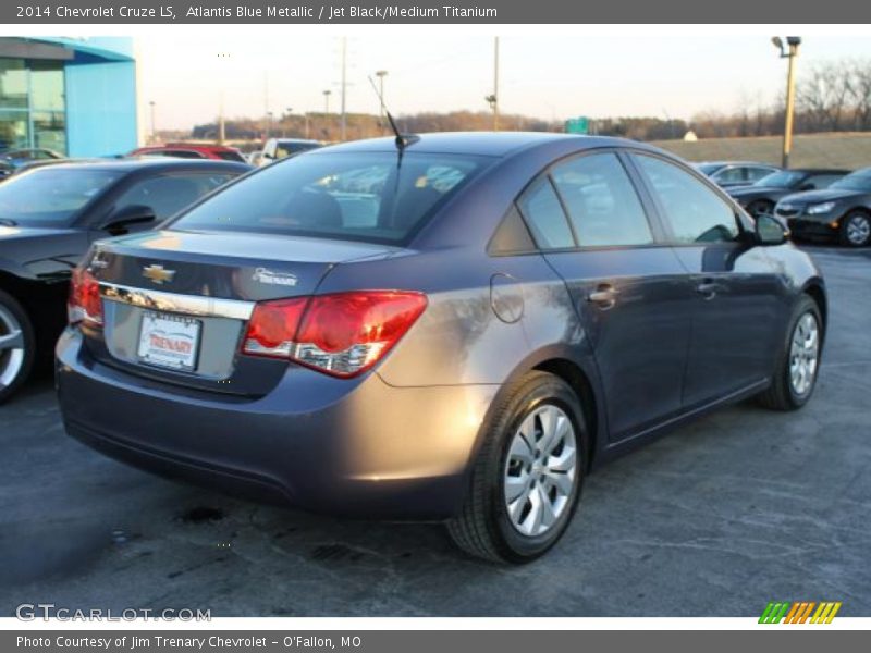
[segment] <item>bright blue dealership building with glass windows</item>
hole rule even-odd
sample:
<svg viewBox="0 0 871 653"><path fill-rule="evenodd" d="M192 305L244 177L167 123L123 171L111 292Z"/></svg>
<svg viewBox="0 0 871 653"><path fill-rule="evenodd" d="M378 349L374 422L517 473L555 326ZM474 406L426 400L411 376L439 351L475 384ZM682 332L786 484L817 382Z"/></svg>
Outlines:
<svg viewBox="0 0 871 653"><path fill-rule="evenodd" d="M132 38L0 38L0 150L124 153L137 107Z"/></svg>

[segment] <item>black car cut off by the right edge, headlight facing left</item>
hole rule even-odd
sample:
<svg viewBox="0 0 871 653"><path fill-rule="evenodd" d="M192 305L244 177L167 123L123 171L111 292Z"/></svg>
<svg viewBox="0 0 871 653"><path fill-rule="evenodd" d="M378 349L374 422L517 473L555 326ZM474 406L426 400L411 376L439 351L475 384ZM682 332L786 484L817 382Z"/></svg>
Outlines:
<svg viewBox="0 0 871 653"><path fill-rule="evenodd" d="M787 195L775 209L796 237L836 238L842 245L871 243L871 168L857 170L823 190Z"/></svg>

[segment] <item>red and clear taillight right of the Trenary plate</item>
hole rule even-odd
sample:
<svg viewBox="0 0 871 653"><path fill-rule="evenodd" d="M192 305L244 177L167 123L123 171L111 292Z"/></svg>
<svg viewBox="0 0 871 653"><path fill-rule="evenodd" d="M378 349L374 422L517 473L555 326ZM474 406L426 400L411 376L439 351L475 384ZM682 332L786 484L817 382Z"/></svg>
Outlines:
<svg viewBox="0 0 871 653"><path fill-rule="evenodd" d="M426 307L425 295L400 291L263 301L252 313L243 352L353 377L378 362Z"/></svg>

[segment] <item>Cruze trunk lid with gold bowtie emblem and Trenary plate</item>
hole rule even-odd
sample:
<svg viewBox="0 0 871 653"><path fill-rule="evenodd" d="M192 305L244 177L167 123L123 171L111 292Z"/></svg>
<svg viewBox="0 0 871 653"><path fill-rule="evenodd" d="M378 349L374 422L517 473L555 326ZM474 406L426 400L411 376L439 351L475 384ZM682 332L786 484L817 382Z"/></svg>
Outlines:
<svg viewBox="0 0 871 653"><path fill-rule="evenodd" d="M260 396L287 362L240 355L257 301L315 294L338 264L391 256L384 245L259 234L148 232L98 243L100 362L188 389Z"/></svg>

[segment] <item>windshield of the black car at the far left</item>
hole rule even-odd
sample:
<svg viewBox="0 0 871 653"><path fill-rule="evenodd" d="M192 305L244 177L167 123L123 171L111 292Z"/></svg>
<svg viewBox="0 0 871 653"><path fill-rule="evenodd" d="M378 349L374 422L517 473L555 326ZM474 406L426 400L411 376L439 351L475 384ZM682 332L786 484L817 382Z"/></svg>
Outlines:
<svg viewBox="0 0 871 653"><path fill-rule="evenodd" d="M0 219L26 225L70 224L121 172L41 168L0 184Z"/></svg>

